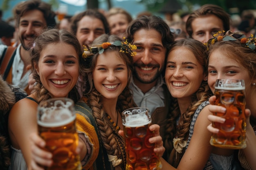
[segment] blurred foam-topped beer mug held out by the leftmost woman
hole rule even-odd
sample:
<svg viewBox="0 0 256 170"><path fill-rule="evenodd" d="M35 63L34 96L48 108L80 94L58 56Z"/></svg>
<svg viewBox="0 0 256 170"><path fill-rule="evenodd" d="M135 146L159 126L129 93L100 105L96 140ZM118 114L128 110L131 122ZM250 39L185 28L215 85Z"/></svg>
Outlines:
<svg viewBox="0 0 256 170"><path fill-rule="evenodd" d="M47 170L82 169L80 157L75 152L79 139L75 119L72 99L53 98L39 104L39 135L46 142L45 149L53 155L53 165Z"/></svg>

